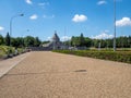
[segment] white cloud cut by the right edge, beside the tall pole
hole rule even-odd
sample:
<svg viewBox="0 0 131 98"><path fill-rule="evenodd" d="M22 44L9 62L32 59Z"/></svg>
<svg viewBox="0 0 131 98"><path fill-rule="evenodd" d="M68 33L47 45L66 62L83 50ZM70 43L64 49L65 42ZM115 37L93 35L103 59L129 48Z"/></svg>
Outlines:
<svg viewBox="0 0 131 98"><path fill-rule="evenodd" d="M130 17L122 17L119 21L116 21L116 26L131 26L131 19Z"/></svg>

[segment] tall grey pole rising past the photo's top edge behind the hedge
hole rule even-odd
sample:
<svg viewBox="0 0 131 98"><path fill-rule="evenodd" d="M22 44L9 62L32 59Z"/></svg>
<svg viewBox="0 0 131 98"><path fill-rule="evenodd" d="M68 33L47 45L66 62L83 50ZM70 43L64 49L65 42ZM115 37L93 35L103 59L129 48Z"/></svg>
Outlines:
<svg viewBox="0 0 131 98"><path fill-rule="evenodd" d="M114 51L116 51L116 0L114 0Z"/></svg>

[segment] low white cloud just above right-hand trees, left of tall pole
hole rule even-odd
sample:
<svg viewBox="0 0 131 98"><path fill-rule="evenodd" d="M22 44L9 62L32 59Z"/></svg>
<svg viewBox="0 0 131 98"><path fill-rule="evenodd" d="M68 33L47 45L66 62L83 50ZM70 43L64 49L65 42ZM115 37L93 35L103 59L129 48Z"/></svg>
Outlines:
<svg viewBox="0 0 131 98"><path fill-rule="evenodd" d="M100 35L92 36L91 38L93 38L93 39L108 39L108 38L112 38L114 37L114 35L109 35L107 33L109 33L109 30L104 30L104 32L102 32Z"/></svg>

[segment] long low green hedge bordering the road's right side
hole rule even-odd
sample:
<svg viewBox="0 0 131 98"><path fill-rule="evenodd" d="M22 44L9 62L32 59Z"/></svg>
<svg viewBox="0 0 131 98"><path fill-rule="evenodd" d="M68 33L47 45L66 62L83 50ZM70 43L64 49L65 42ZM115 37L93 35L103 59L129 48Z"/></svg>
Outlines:
<svg viewBox="0 0 131 98"><path fill-rule="evenodd" d="M131 51L53 50L55 52L131 63Z"/></svg>

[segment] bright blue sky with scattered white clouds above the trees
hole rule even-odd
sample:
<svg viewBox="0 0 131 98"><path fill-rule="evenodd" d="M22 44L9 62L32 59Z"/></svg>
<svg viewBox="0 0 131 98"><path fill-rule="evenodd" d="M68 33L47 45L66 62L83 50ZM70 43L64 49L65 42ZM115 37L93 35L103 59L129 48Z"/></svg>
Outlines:
<svg viewBox="0 0 131 98"><path fill-rule="evenodd" d="M0 0L0 35L61 40L72 36L114 37L115 0ZM24 14L21 16L20 14ZM131 0L116 0L116 35L131 36Z"/></svg>

